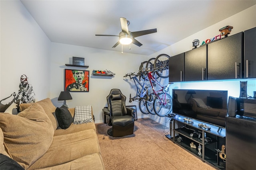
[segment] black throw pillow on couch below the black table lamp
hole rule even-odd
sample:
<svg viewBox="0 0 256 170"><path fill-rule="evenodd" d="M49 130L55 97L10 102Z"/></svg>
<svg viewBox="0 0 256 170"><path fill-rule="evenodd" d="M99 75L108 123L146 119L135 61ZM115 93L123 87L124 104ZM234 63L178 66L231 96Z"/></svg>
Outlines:
<svg viewBox="0 0 256 170"><path fill-rule="evenodd" d="M67 129L68 127L70 127L71 123L73 122L73 117L66 106L61 106L60 108L57 107L55 110L55 114L56 114L59 126L62 129Z"/></svg>

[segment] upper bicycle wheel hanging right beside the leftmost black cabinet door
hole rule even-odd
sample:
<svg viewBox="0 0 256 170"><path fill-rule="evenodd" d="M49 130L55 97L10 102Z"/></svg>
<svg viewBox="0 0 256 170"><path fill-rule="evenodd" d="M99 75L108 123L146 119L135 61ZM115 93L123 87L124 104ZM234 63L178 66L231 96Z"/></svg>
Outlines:
<svg viewBox="0 0 256 170"><path fill-rule="evenodd" d="M170 56L167 54L160 54L155 59L154 68L160 68L156 74L161 78L169 77L169 58Z"/></svg>

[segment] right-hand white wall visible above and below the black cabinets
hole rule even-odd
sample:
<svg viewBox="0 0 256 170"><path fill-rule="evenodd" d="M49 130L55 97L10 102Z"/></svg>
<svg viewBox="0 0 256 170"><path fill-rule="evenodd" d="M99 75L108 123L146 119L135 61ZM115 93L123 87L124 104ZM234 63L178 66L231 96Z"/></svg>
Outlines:
<svg viewBox="0 0 256 170"><path fill-rule="evenodd" d="M158 51L158 53L155 53L153 55L150 55L148 59L151 57L156 57L159 54L168 54L170 56L178 55L180 53L184 53L186 51L191 50L192 47L192 41L194 39L200 40L200 45L203 41L206 39L212 39L216 35L220 34L219 29L226 26L231 25L234 28L232 29L231 33L229 35L234 35L236 33L239 33L241 31L245 31L247 29L251 29L253 27L256 27L256 5L239 12L238 14L235 14L229 18L226 18L225 20L222 20L214 25L211 25L210 27L203 29L202 31L199 31L193 35L190 35L189 37L183 39L182 41L179 41L175 43L174 45L171 45L162 51ZM189 29L189 28L188 28ZM246 80L241 80L246 81ZM252 96L252 92L256 91L256 80L250 79L247 80L248 82L248 95ZM168 81L166 80L166 84ZM170 93L172 92L172 88L178 88L178 89L211 89L211 90L228 90L228 95L239 97L240 93L240 80L229 80L229 81L211 81L211 82L182 82L182 83L174 83L170 86ZM160 123L165 123L165 118L160 118L158 116L152 116L153 119L156 119Z"/></svg>

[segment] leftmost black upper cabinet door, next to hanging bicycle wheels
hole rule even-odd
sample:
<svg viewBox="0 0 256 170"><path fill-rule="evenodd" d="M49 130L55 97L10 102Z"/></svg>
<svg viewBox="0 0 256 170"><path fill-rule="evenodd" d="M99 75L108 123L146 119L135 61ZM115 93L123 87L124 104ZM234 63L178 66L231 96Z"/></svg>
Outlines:
<svg viewBox="0 0 256 170"><path fill-rule="evenodd" d="M169 58L169 82L184 81L184 53Z"/></svg>

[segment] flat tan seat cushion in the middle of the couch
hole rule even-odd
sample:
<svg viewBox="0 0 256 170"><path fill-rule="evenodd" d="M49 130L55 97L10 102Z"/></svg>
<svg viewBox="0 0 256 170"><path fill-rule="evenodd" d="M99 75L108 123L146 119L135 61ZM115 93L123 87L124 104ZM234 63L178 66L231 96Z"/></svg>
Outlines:
<svg viewBox="0 0 256 170"><path fill-rule="evenodd" d="M64 131L66 130L67 129ZM100 153L98 137L93 129L66 135L58 135L54 136L52 145L47 152L39 158L38 161L32 164L29 169L46 168L66 164L93 153ZM85 162L80 163L84 164L84 167L86 167Z"/></svg>

